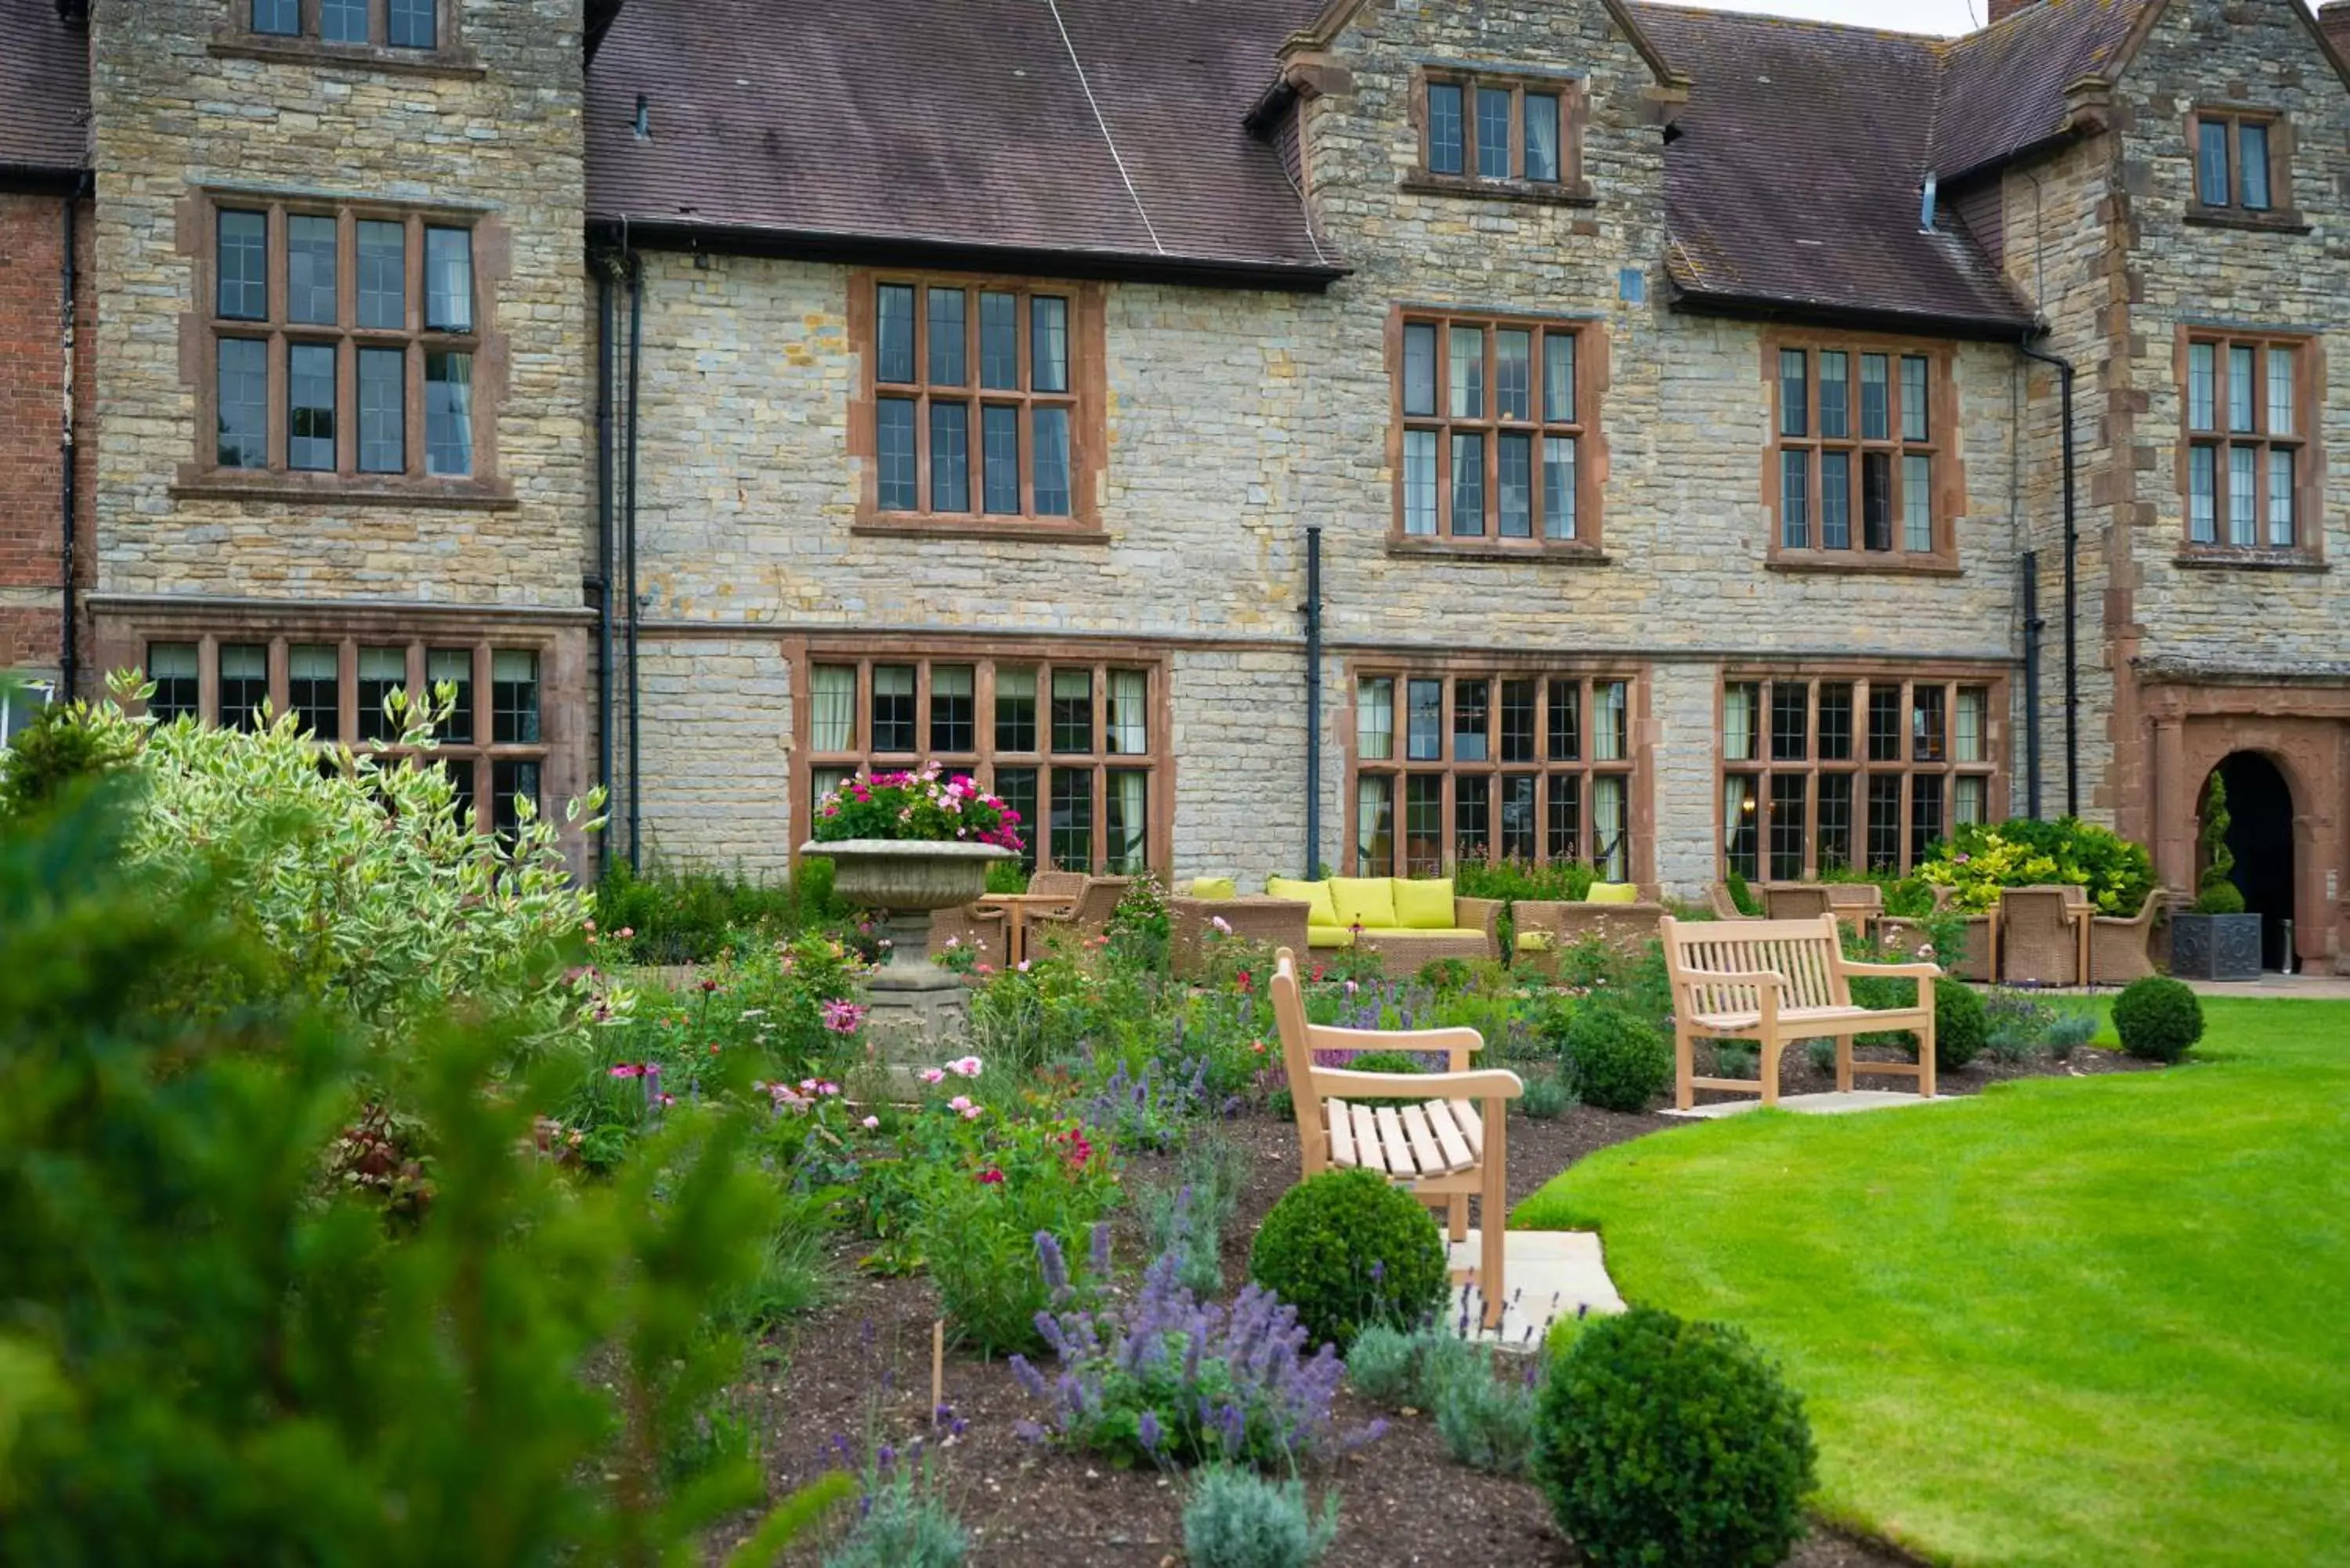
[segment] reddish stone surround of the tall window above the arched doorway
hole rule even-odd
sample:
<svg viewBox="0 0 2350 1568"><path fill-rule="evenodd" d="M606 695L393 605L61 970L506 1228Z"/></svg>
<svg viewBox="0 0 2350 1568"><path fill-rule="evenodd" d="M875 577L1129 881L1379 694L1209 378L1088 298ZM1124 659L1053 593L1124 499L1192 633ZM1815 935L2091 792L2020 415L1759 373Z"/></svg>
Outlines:
<svg viewBox="0 0 2350 1568"><path fill-rule="evenodd" d="M2291 348L2294 350L2294 418L2301 423L2301 463L2294 470L2294 548L2277 550L2272 545L2228 545L2228 543L2197 543L2195 541L2195 498L2193 498L2193 458L2190 451L2197 447L2193 433L2188 430L2188 350L2195 343L2216 343L2216 371L2218 381L2214 386L2214 402L2218 418L2216 425L2225 425L2225 355L2228 346L2251 346L2251 348ZM2265 367L2263 367L2265 371ZM2181 322L2176 329L2171 386L2178 395L2178 447L2176 447L2176 482L2178 482L2178 552L2176 564L2181 567L2242 567L2242 569L2268 569L2268 571L2324 571L2324 520L2326 520L2326 451L2324 451L2324 418L2317 414L2324 407L2326 388L2326 339L2315 327L2251 327L2251 324L2197 324ZM2268 383L2265 374L2258 378L2258 397L2254 402L2254 423L2263 425L2258 447L2265 454L2270 437L2265 435L2265 407L2268 407ZM2230 444L2228 430L2214 430L2211 442L2223 454ZM2261 480L2261 505L2254 515L2254 534L2258 538L2268 536L2268 482L2265 465ZM2216 531L2225 531L2225 470L2218 475L2218 491L2214 496Z"/></svg>

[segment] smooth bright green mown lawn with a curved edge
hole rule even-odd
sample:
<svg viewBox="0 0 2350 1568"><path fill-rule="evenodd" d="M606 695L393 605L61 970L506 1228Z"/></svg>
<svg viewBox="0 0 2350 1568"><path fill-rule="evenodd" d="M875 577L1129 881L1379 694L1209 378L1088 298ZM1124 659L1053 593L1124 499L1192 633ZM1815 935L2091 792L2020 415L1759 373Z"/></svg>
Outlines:
<svg viewBox="0 0 2350 1568"><path fill-rule="evenodd" d="M2197 1065L1593 1154L1633 1302L1802 1389L1831 1519L1948 1563L2350 1563L2350 1001L2207 1001Z"/></svg>

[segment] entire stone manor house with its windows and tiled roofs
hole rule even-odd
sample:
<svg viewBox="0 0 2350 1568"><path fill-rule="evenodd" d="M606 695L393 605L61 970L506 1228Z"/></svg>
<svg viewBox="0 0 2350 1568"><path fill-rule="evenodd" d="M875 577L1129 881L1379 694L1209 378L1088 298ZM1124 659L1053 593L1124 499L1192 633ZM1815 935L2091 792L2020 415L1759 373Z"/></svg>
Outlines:
<svg viewBox="0 0 2350 1568"><path fill-rule="evenodd" d="M2218 771L2334 969L2350 14L1990 16L0 0L0 668L451 682L583 867L938 757L1095 870L2190 886Z"/></svg>

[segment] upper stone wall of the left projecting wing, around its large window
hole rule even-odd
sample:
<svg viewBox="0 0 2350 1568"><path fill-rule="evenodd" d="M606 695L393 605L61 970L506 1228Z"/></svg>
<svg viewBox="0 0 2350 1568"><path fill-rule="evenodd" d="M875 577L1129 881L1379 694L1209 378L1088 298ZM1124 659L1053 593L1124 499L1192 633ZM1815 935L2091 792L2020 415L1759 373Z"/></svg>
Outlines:
<svg viewBox="0 0 2350 1568"><path fill-rule="evenodd" d="M576 607L595 442L580 223L580 0L468 0L482 75L270 63L207 45L223 0L99 0L99 583L108 592ZM489 209L512 510L277 505L174 496L195 454L195 308L183 205L204 186ZM421 433L411 433L421 440Z"/></svg>

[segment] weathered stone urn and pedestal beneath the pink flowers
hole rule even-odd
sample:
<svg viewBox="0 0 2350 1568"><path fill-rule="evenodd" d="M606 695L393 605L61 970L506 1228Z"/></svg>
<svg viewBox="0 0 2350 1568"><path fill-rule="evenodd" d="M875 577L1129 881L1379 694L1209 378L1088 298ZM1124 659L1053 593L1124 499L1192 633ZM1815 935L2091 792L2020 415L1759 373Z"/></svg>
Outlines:
<svg viewBox="0 0 2350 1568"><path fill-rule="evenodd" d="M893 1060L938 1051L964 1037L971 1016L964 980L931 961L931 914L987 893L987 865L1010 860L994 844L924 839L837 839L801 844L801 856L832 860L832 891L862 910L881 910L888 954L865 983L867 1034Z"/></svg>

